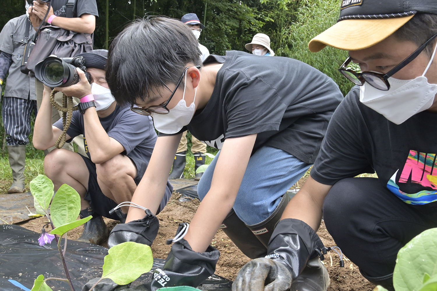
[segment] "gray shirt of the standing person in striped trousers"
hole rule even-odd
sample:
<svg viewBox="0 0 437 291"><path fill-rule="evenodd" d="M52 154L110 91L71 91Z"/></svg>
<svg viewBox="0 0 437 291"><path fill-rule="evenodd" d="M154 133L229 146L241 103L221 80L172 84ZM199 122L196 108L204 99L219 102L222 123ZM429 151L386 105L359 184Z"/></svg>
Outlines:
<svg viewBox="0 0 437 291"><path fill-rule="evenodd" d="M30 24L28 38L25 37L27 23L30 24L28 17L23 14L8 21L0 32L0 51L12 55L4 96L22 99L29 99L30 96L31 100L36 100L35 78L20 71L24 46L28 40L31 41L35 37L36 33Z"/></svg>

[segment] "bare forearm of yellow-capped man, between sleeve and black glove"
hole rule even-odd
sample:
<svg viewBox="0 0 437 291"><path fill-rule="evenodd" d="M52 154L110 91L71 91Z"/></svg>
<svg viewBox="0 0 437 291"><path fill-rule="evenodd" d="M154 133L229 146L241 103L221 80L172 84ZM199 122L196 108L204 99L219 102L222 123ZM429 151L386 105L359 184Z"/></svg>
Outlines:
<svg viewBox="0 0 437 291"><path fill-rule="evenodd" d="M281 219L300 219L317 231L322 220L323 200L331 187L332 185L319 183L310 176L288 203Z"/></svg>

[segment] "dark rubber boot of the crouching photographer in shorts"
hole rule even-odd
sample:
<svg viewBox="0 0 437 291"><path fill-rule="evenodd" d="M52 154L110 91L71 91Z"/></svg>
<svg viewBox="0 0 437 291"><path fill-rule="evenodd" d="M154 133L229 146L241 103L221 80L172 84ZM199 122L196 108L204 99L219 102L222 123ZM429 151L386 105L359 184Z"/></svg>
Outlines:
<svg viewBox="0 0 437 291"><path fill-rule="evenodd" d="M84 243L99 244L108 239L109 233L103 217L98 215L91 208L83 209L79 212L80 218L92 215L93 218L83 225L83 233L77 241Z"/></svg>

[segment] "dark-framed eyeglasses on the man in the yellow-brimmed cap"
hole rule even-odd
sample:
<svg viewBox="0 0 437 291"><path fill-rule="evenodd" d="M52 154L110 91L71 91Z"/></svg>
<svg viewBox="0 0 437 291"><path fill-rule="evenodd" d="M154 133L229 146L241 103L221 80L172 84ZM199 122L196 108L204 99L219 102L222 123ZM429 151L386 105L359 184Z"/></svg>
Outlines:
<svg viewBox="0 0 437 291"><path fill-rule="evenodd" d="M413 61L436 36L437 34L434 34L432 38L427 40L427 42L425 42L420 48L416 49L416 51L409 55L405 60L400 62L399 65L392 68L387 74L375 72L357 73L351 69L348 69L347 65L349 65L349 63L352 61L351 57L347 58L347 60L343 63L343 65L341 65L338 70L355 85L363 86L364 82L368 82L370 86L375 87L376 89L387 91L388 89L390 89L390 83L388 83L388 78L394 75L406 65L408 65L409 62Z"/></svg>

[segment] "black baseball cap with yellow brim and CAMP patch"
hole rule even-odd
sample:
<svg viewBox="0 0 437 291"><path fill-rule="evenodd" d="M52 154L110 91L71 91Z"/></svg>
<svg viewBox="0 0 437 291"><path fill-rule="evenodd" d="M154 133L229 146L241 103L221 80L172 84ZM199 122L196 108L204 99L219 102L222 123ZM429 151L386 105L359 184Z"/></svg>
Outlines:
<svg viewBox="0 0 437 291"><path fill-rule="evenodd" d="M348 51L369 48L416 13L437 14L437 0L342 0L336 24L309 41L312 52L326 45Z"/></svg>

